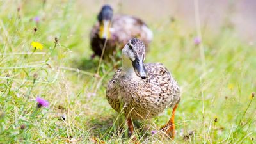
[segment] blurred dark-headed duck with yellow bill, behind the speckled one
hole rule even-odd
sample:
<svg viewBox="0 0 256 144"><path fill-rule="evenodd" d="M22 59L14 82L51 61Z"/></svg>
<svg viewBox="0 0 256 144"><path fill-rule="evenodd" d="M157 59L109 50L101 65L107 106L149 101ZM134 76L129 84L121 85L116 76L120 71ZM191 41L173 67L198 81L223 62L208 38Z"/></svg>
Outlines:
<svg viewBox="0 0 256 144"><path fill-rule="evenodd" d="M113 15L111 6L102 6L97 22L90 31L90 46L94 52L92 58L101 56L102 53L104 59L118 58L120 49L133 37L140 38L148 45L152 41L153 33L138 17Z"/></svg>

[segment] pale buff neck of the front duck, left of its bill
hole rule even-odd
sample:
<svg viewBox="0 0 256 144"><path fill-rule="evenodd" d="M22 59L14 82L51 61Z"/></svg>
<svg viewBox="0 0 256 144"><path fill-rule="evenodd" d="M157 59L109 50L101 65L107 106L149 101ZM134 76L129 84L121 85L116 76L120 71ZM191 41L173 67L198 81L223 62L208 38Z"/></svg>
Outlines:
<svg viewBox="0 0 256 144"><path fill-rule="evenodd" d="M122 73L127 77L136 77L132 62L128 58L122 58Z"/></svg>

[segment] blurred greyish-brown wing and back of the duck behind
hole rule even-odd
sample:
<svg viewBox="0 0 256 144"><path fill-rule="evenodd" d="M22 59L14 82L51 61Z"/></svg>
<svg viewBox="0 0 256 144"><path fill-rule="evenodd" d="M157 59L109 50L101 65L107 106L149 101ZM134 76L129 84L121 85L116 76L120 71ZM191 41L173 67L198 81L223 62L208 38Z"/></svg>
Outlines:
<svg viewBox="0 0 256 144"><path fill-rule="evenodd" d="M152 41L153 33L143 20L130 15L115 15L112 21L113 35L118 37L120 42L125 44L131 38L140 38L145 45Z"/></svg>

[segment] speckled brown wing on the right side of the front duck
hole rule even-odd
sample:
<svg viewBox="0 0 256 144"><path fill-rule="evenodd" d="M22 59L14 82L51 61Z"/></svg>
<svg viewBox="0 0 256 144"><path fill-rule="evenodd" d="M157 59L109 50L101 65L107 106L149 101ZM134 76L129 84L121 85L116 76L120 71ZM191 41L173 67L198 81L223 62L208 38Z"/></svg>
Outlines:
<svg viewBox="0 0 256 144"><path fill-rule="evenodd" d="M145 68L148 73L146 79L151 85L152 95L159 95L162 99L168 99L170 106L174 106L180 100L180 88L172 74L162 63L146 63Z"/></svg>

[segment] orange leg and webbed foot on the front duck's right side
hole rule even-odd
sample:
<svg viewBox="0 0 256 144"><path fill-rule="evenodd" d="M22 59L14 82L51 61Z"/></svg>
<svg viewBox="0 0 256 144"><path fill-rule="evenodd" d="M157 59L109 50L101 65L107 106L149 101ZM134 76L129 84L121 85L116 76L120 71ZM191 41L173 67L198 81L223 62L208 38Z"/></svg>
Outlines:
<svg viewBox="0 0 256 144"><path fill-rule="evenodd" d="M176 104L172 110L172 116L169 120L169 122L161 127L161 130L166 132L172 139L174 138L175 135L175 125L174 125L174 116L175 116L175 111L177 109L178 104Z"/></svg>

